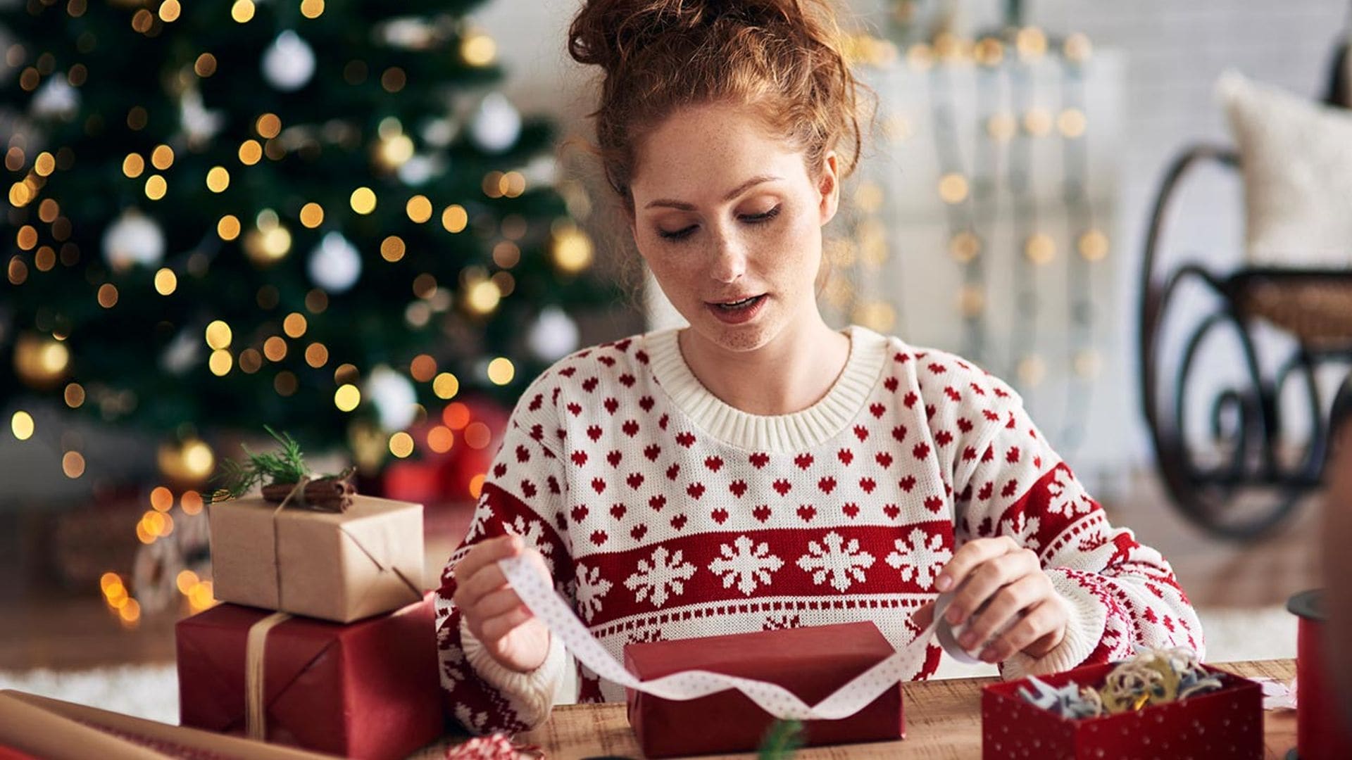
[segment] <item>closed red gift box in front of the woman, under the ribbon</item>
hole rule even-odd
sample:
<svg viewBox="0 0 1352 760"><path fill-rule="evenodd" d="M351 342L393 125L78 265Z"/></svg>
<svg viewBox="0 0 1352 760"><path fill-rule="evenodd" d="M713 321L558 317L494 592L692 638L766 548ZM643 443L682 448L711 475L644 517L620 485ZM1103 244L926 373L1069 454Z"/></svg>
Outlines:
<svg viewBox="0 0 1352 760"><path fill-rule="evenodd" d="M704 669L776 683L808 705L895 649L872 622L654 641L625 646L625 667L641 680ZM629 725L648 757L740 752L760 746L775 717L735 690L684 702L626 690ZM902 684L859 713L803 721L808 745L886 741L906 736Z"/></svg>

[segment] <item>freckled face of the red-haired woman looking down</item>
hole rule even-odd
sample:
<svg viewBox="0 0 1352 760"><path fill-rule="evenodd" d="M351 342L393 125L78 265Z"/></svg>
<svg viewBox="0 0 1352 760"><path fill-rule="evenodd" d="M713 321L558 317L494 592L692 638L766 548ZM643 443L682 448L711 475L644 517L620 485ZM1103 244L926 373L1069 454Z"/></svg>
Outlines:
<svg viewBox="0 0 1352 760"><path fill-rule="evenodd" d="M836 154L813 181L803 153L745 108L677 111L638 146L630 183L639 254L703 338L761 348L819 319L822 226L836 215Z"/></svg>

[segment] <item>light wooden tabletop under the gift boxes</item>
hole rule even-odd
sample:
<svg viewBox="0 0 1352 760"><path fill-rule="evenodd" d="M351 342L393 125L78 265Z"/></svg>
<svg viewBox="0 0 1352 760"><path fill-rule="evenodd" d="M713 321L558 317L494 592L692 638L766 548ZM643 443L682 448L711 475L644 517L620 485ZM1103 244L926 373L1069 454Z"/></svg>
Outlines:
<svg viewBox="0 0 1352 760"><path fill-rule="evenodd" d="M1290 683L1295 660L1224 663L1222 669L1241 676L1267 676ZM950 679L903 684L906 738L872 744L807 748L800 760L883 760L906 757L980 757L982 687L998 679ZM1263 714L1265 756L1284 759L1295 746L1295 711L1271 710ZM554 707L544 726L521 734L526 742L544 748L545 757L580 760L592 756L641 757L638 742L625 717L625 705L566 705ZM754 755L704 756L708 759L750 759Z"/></svg>

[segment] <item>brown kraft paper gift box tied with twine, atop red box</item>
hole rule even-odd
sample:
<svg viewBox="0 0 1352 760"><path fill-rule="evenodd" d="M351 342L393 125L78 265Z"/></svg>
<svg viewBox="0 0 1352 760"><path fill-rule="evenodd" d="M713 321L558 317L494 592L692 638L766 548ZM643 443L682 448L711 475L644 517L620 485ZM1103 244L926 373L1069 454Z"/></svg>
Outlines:
<svg viewBox="0 0 1352 760"><path fill-rule="evenodd" d="M216 599L334 622L423 595L422 504L353 496L342 513L261 496L210 507Z"/></svg>

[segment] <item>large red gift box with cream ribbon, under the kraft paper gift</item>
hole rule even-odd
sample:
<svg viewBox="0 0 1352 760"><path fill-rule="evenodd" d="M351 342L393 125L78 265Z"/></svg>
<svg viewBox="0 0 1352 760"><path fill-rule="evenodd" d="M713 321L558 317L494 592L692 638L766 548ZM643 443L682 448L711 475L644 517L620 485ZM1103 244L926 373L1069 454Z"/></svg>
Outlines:
<svg viewBox="0 0 1352 760"><path fill-rule="evenodd" d="M218 604L178 621L180 722L245 734L250 626L268 610ZM353 623L293 617L268 632L264 738L397 759L442 734L431 596Z"/></svg>

